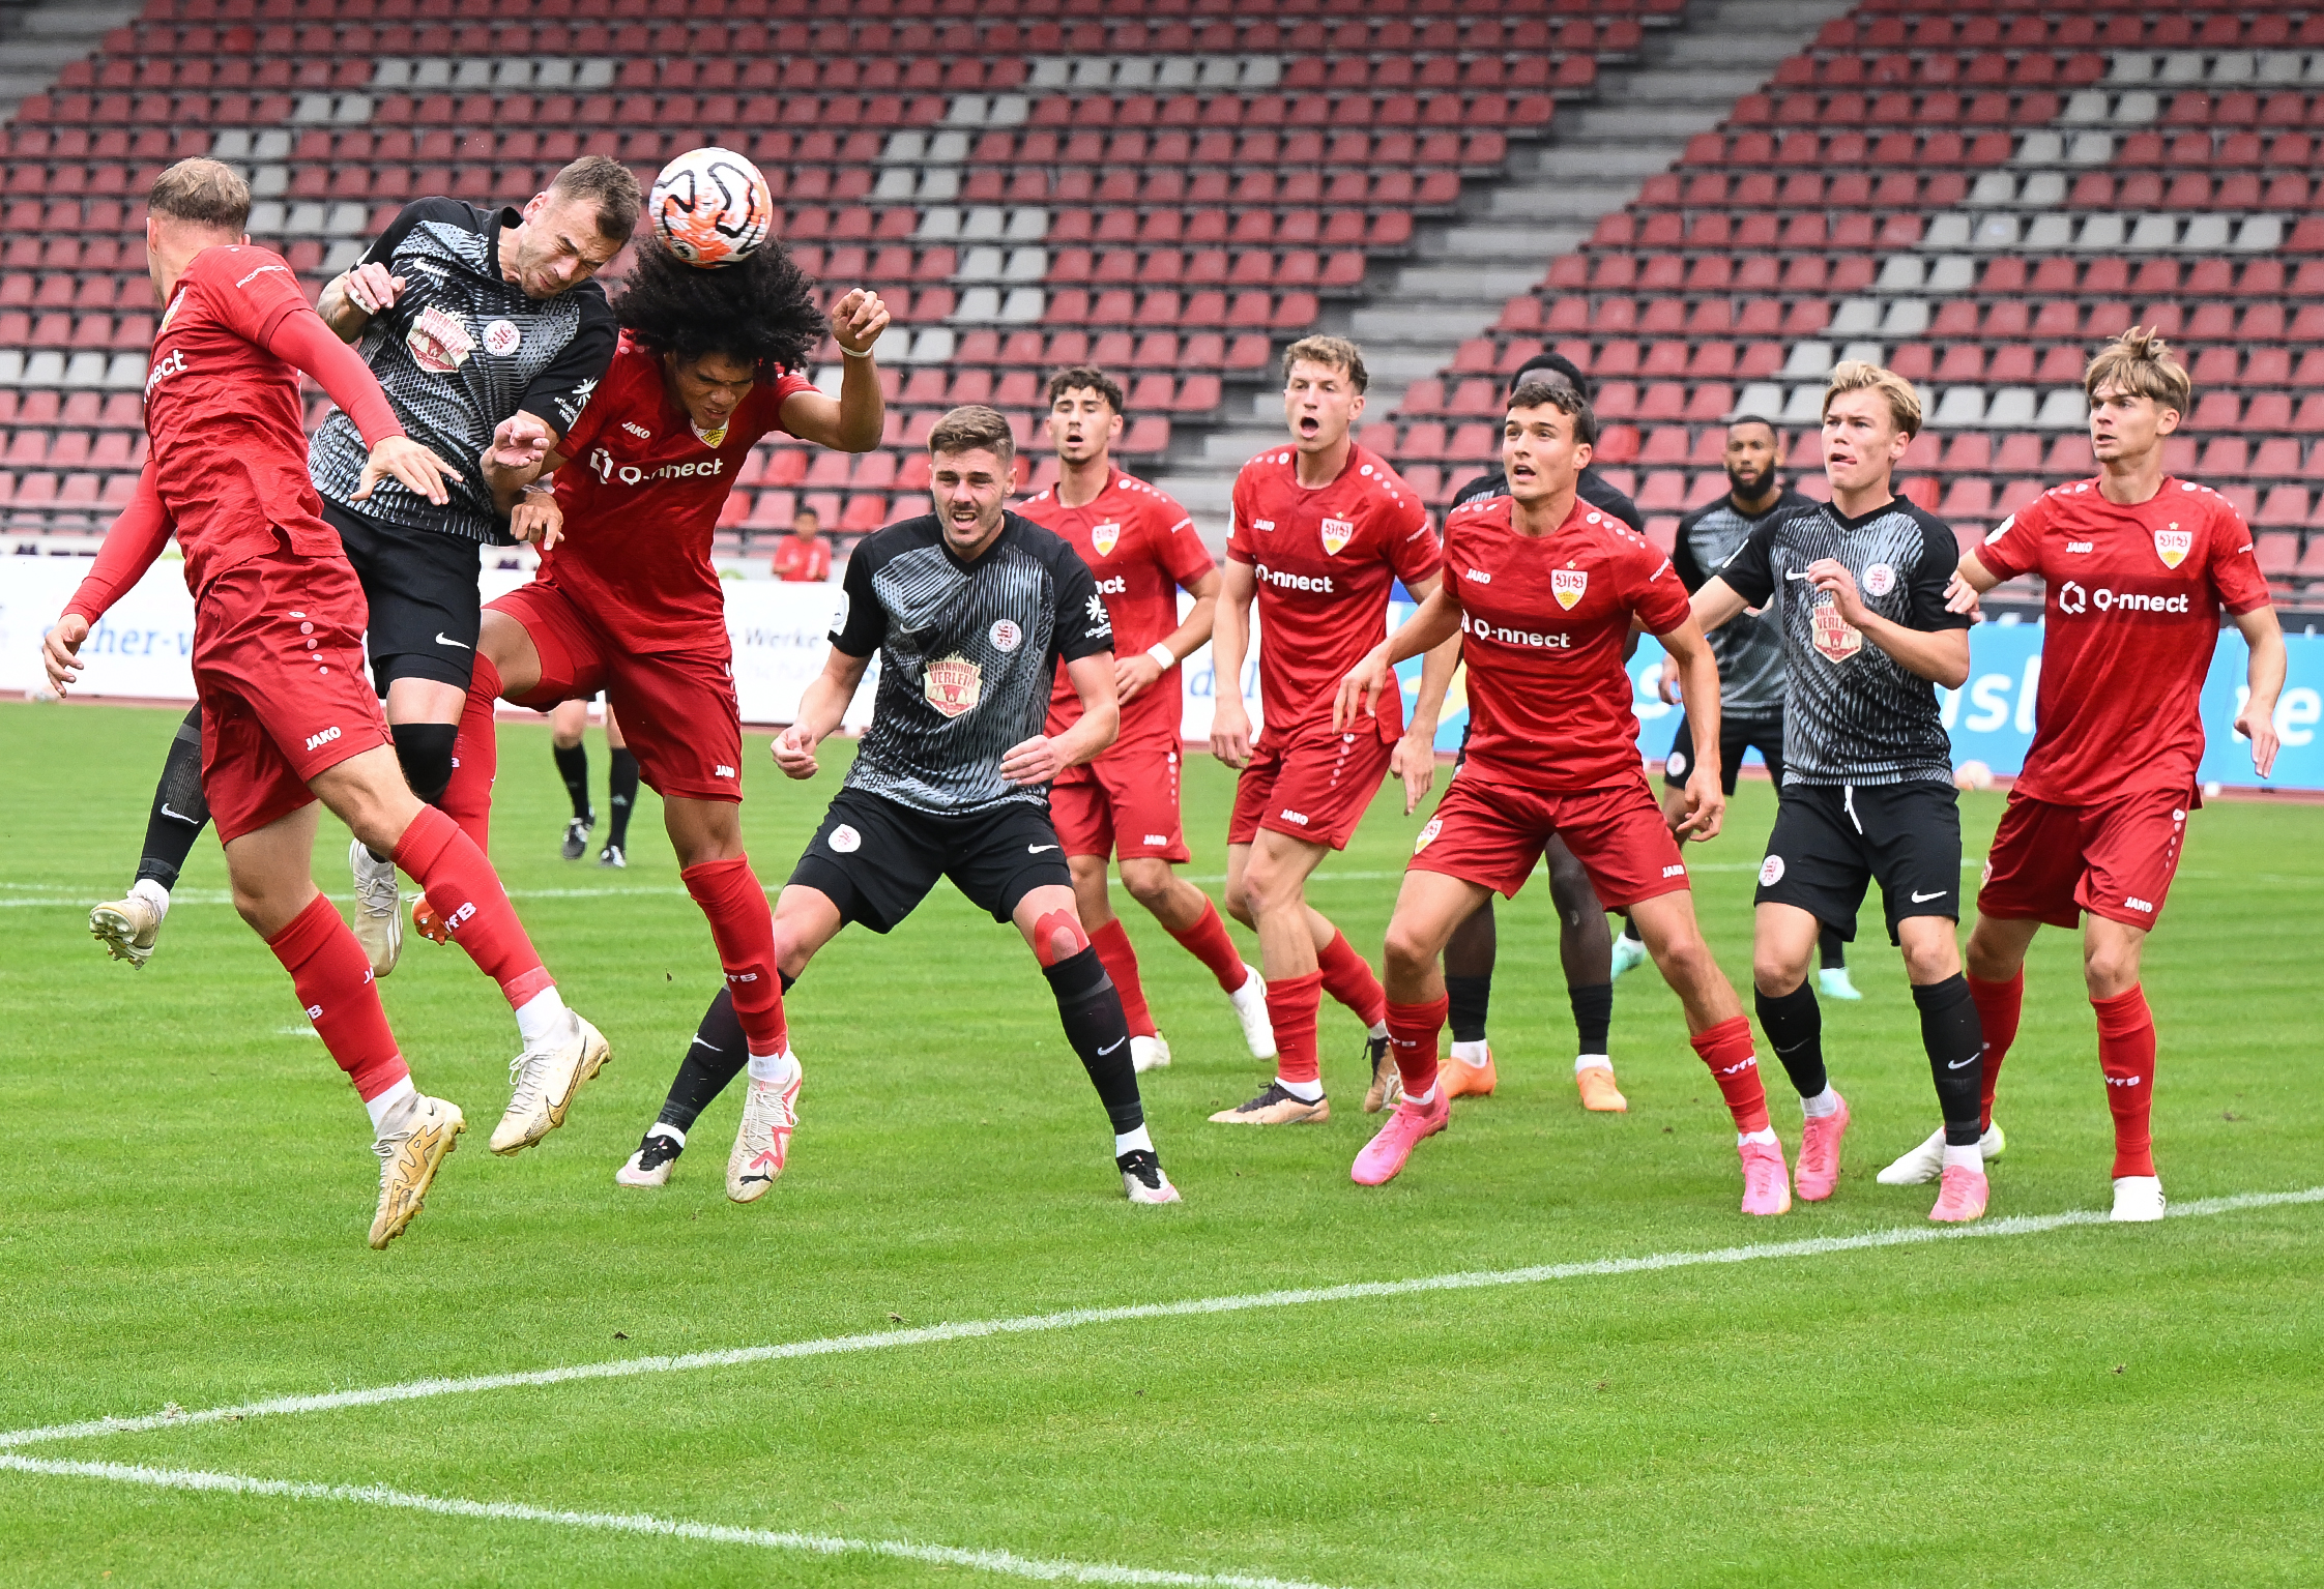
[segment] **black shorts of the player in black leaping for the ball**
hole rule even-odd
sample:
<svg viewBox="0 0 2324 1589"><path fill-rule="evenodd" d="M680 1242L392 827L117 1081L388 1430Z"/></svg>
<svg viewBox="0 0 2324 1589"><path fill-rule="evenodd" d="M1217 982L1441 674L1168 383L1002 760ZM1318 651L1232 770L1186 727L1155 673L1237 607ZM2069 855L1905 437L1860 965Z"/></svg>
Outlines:
<svg viewBox="0 0 2324 1589"><path fill-rule="evenodd" d="M467 690L483 623L476 590L483 541L383 525L337 502L323 504L323 518L339 532L363 599L372 604L363 648L372 655L379 692L386 695L395 678L435 678Z"/></svg>

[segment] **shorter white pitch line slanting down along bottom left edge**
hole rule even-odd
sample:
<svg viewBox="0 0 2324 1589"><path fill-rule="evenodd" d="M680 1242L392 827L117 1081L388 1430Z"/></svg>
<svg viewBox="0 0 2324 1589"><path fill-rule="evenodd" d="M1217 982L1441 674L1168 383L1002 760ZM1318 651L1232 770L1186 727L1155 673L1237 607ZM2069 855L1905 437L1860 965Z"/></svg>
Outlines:
<svg viewBox="0 0 2324 1589"><path fill-rule="evenodd" d="M1009 1577L1034 1577L1060 1584L1185 1584L1190 1589L1325 1589L1290 1577L1253 1577L1248 1573L1169 1573L1157 1568L1125 1568L1106 1561L1057 1561L1046 1556L1018 1556L1006 1550L960 1550L953 1545L916 1545L913 1540L846 1540L832 1533L792 1533L776 1529L732 1529L725 1524L679 1522L674 1517L651 1517L644 1512L562 1512L518 1501L460 1501L458 1496L416 1496L386 1484L302 1484L295 1480L263 1480L244 1473L205 1473L200 1468L144 1468L119 1461L53 1461L44 1457L0 1454L0 1468L16 1473L40 1473L51 1477L93 1477L114 1484L146 1484L151 1489L193 1489L230 1496L279 1496L284 1501L344 1501L351 1505L386 1505L404 1512L435 1512L437 1517L479 1517L486 1522L532 1522L565 1529L607 1529L611 1533L651 1533L674 1540L700 1540L706 1545L758 1545L760 1550L799 1550L818 1556L890 1556L899 1561L927 1561L937 1566L962 1566L983 1573L1006 1573Z"/></svg>

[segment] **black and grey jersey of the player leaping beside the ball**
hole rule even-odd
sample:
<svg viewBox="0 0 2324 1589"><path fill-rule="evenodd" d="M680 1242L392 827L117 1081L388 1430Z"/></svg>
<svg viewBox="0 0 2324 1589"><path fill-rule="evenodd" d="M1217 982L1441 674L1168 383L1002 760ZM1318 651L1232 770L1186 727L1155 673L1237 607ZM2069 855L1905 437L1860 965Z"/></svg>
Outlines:
<svg viewBox="0 0 2324 1589"><path fill-rule="evenodd" d="M356 423L335 409L307 446L307 472L325 502L388 525L469 541L509 539L476 455L493 427L516 411L546 420L558 434L572 430L621 337L614 307L595 281L555 297L528 297L500 274L502 228L521 218L514 209L425 197L404 204L363 256L404 279L402 297L363 330L363 362L379 376L404 432L435 448L460 481L449 486L449 506L393 479L358 504L353 495L370 448Z"/></svg>

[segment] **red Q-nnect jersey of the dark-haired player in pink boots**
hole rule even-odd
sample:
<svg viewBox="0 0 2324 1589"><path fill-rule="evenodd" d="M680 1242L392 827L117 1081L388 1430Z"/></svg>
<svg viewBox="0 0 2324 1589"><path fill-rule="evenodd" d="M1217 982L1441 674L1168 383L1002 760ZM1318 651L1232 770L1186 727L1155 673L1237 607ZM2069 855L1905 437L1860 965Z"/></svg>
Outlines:
<svg viewBox="0 0 2324 1589"><path fill-rule="evenodd" d="M1631 613L1648 634L1687 623L1687 588L1659 546L1580 497L1550 534L1483 497L1446 518L1446 592L1469 662L1462 778L1594 790L1638 778Z"/></svg>

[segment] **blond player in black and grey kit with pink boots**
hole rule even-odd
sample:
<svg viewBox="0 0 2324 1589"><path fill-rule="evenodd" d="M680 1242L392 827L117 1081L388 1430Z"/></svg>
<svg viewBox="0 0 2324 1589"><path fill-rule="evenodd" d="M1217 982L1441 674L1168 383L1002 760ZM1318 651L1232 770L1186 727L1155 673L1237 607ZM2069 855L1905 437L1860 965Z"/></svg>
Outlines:
<svg viewBox="0 0 2324 1589"><path fill-rule="evenodd" d="M1831 502L1769 513L1694 592L1720 630L1745 606L1783 639L1783 801L1759 867L1752 983L1759 1027L1792 1076L1806 1124L1796 1187L1831 1196L1848 1099L1824 1071L1824 1013L1808 983L1815 939L1852 939L1878 878L1903 950L1920 1041L1945 1113L1938 1222L1985 1213L1978 1145L1978 1006L1961 980L1961 806L1936 685L1968 678L1968 620L1945 606L1959 546L1899 502L1889 472L1920 434L1899 374L1843 360L1824 388Z"/></svg>

